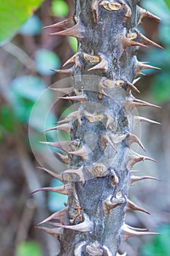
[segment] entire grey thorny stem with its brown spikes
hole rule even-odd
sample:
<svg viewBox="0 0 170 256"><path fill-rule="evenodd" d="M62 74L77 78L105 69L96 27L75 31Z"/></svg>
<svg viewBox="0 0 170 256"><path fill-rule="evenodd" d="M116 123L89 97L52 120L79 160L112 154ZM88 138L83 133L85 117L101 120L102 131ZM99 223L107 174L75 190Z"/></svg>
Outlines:
<svg viewBox="0 0 170 256"><path fill-rule="evenodd" d="M74 17L51 26L61 29L53 35L77 37L79 42L78 53L66 61L74 66L56 70L74 78L74 87L65 89L63 98L78 104L55 127L66 130L71 139L49 143L66 153L61 158L69 170L62 177L51 174L64 183L53 190L69 195L69 203L45 219L55 219L55 228L42 227L60 239L62 256L118 256L123 241L148 233L125 224L126 211L147 213L128 200L130 185L149 178L131 174L136 162L150 159L130 148L138 143L144 149L133 129L139 121L150 121L132 110L152 106L135 99L132 91L138 91L134 83L140 69L154 68L139 62L136 51L146 45L159 47L137 30L145 16L159 20L138 4L77 0Z"/></svg>

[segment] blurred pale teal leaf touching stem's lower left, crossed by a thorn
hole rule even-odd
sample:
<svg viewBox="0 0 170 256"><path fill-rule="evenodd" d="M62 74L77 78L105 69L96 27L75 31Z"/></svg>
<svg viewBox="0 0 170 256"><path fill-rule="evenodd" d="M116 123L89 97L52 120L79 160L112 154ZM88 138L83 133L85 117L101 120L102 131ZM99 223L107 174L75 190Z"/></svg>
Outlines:
<svg viewBox="0 0 170 256"><path fill-rule="evenodd" d="M50 184L50 187L62 186L63 183L58 181L56 178L53 178L53 181ZM58 194L55 192L48 193L47 205L50 211L60 211L65 208L64 203L68 200L67 195Z"/></svg>

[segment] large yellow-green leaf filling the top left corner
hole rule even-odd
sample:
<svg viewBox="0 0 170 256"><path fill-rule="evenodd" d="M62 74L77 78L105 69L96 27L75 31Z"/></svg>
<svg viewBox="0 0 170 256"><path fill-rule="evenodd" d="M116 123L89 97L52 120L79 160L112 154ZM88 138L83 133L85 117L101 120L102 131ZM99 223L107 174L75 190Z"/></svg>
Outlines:
<svg viewBox="0 0 170 256"><path fill-rule="evenodd" d="M0 0L0 44L13 37L43 0Z"/></svg>

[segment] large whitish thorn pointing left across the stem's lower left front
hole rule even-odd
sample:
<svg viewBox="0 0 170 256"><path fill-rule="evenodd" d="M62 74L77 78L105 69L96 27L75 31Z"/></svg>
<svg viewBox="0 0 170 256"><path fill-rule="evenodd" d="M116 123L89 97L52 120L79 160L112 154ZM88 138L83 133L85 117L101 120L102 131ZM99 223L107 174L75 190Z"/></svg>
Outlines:
<svg viewBox="0 0 170 256"><path fill-rule="evenodd" d="M84 214L85 220L84 222L81 222L80 224L77 225L57 225L53 224L55 227L63 227L69 230L74 230L78 232L91 232L93 230L93 222L90 221L89 217L87 214Z"/></svg>

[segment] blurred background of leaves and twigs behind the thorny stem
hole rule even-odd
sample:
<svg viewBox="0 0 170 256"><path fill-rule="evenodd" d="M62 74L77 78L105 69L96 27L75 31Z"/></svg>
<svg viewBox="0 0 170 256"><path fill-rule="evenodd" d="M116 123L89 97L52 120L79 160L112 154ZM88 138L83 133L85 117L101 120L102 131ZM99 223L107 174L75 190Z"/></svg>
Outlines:
<svg viewBox="0 0 170 256"><path fill-rule="evenodd" d="M36 169L39 164L52 165L47 151L36 141L43 140L45 136L39 131L52 127L62 113L66 115L70 111L66 112L69 105L65 102L63 105L62 101L52 108L53 91L46 89L64 78L63 75L55 75L50 68L62 67L77 51L77 40L73 37L49 37L48 33L53 29L42 30L42 27L73 14L74 1L45 0L42 4L37 1L39 8L34 12L34 8L28 6L26 13L22 8L15 11L11 4L15 1L9 2L10 13L7 13L7 3L4 10L1 5L0 13L3 12L6 22L6 26L1 26L1 31L6 31L1 40L12 37L8 31L13 29L15 34L23 21L26 22L18 34L1 44L0 48L0 256L51 256L58 252L56 239L35 226L63 208L67 198L53 192L31 195L39 187L59 184L56 179ZM131 187L131 200L151 215L128 213L127 222L134 227L148 227L153 232L160 232L161 236L131 238L120 250L133 256L170 256L170 4L163 0L141 0L140 4L161 18L160 23L145 18L140 30L160 43L164 50L149 47L138 53L140 61L150 61L161 71L144 70L146 76L137 83L141 94L136 96L162 107L142 107L138 111L139 116L159 121L162 125L142 124L141 139L147 156L157 159L158 163L142 162L135 168L141 175L156 176L161 181L141 181ZM0 34L2 37L3 33ZM41 111L32 115L29 121L37 99ZM44 113L47 113L45 122L42 121ZM57 139L55 132L46 135L47 140ZM63 137L67 139L65 134Z"/></svg>

